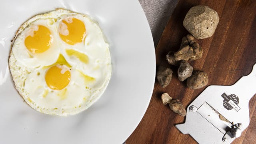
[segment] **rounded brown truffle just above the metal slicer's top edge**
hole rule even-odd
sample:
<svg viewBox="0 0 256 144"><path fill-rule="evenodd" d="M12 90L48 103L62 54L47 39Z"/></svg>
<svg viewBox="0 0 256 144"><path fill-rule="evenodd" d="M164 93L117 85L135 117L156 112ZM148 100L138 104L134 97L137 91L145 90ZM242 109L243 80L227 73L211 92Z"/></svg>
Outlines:
<svg viewBox="0 0 256 144"><path fill-rule="evenodd" d="M208 84L208 76L205 72L194 71L187 79L187 86L193 90L202 88Z"/></svg>

